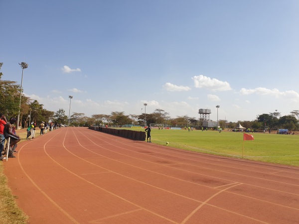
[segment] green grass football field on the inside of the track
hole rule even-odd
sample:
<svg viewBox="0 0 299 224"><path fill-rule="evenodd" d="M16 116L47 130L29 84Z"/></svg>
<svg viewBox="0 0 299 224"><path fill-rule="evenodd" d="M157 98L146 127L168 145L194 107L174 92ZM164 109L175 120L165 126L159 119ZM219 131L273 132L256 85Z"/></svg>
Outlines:
<svg viewBox="0 0 299 224"><path fill-rule="evenodd" d="M135 130L138 130L137 128ZM299 135L251 133L253 141L243 142L243 133L151 129L151 141L169 147L228 157L299 166Z"/></svg>

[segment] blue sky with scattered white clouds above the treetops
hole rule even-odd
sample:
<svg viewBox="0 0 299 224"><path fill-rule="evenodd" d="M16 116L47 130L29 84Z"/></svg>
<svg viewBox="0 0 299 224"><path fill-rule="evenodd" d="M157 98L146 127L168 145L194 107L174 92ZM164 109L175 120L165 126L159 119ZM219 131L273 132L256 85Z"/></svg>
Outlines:
<svg viewBox="0 0 299 224"><path fill-rule="evenodd" d="M20 85L27 63L23 94L66 115L284 116L299 110L298 11L298 0L0 0L2 80Z"/></svg>

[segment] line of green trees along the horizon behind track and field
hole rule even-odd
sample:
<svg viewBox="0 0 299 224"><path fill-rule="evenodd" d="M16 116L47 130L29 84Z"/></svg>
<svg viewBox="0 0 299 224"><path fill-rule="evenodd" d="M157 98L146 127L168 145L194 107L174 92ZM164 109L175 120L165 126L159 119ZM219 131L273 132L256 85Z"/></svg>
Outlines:
<svg viewBox="0 0 299 224"><path fill-rule="evenodd" d="M7 119L17 117L19 111L20 85L15 81L2 80L0 73L0 112ZM146 122L145 122L146 118ZM58 124L68 124L68 116L65 115L63 109L57 112L48 111L43 108L43 105L36 100L31 100L22 94L20 107L20 126L27 127L30 122L37 124L42 121L56 122ZM239 123L247 128L271 129L287 128L299 129L299 111L294 110L289 115L281 116L279 112L263 113L253 121L238 121L228 122L227 120L219 120L219 125L222 128L235 128ZM201 127L202 120L188 115L176 116L171 118L168 112L161 109L155 109L152 113L129 114L125 112L111 112L111 114L93 114L91 117L84 113L73 112L70 116L70 125L74 126L90 126L90 125L109 125L109 126L124 126L126 124L144 126L150 123L164 124L171 127Z"/></svg>

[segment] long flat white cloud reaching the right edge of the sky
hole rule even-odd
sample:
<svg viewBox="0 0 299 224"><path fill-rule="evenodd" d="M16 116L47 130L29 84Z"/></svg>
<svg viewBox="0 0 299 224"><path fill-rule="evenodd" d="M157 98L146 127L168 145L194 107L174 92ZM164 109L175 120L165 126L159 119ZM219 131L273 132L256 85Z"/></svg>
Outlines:
<svg viewBox="0 0 299 224"><path fill-rule="evenodd" d="M240 90L241 95L250 95L250 94L256 94L261 96L274 96L276 98L282 97L282 98L288 98L288 99L298 99L299 100L299 94L295 92L294 90L280 92L278 89L267 89L264 87L259 87L255 89L245 89L242 88Z"/></svg>

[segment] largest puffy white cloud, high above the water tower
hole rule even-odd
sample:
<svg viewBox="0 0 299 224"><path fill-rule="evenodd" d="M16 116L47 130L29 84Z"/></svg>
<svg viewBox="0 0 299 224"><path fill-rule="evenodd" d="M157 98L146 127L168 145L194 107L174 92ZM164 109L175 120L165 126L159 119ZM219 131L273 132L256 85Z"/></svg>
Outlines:
<svg viewBox="0 0 299 224"><path fill-rule="evenodd" d="M232 89L228 82L211 79L203 75L194 76L192 79L196 88L206 88L212 91L228 91Z"/></svg>

